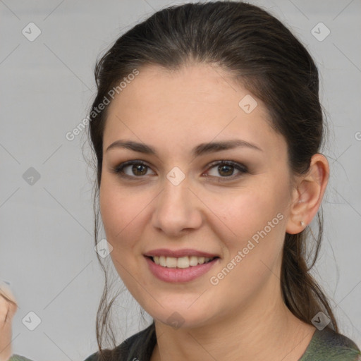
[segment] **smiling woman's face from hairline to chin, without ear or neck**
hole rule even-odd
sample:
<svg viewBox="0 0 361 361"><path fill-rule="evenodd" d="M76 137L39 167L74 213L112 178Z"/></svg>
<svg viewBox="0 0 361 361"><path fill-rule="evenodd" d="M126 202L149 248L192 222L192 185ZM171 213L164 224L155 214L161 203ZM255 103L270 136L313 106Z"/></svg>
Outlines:
<svg viewBox="0 0 361 361"><path fill-rule="evenodd" d="M231 141L239 143L213 145ZM109 105L103 154L111 259L154 319L202 326L280 297L292 195L286 141L228 73L205 64L141 68Z"/></svg>

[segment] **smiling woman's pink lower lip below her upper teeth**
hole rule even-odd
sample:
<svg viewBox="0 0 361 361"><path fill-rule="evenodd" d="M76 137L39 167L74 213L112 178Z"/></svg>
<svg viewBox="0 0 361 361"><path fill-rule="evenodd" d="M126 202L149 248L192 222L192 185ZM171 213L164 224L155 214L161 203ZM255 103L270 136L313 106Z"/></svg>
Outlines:
<svg viewBox="0 0 361 361"><path fill-rule="evenodd" d="M219 260L219 258L213 259L211 262L204 264L198 264L197 266L191 266L188 268L170 268L162 267L159 264L156 264L149 257L145 257L148 263L148 267L152 274L156 276L161 281L165 282L189 282L198 277L206 274L209 269L211 269L214 264Z"/></svg>

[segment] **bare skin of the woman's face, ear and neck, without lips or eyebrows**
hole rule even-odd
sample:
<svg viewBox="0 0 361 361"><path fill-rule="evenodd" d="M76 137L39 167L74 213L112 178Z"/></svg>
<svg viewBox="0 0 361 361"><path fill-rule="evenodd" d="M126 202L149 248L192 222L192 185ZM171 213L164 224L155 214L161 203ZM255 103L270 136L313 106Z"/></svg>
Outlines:
<svg viewBox="0 0 361 361"><path fill-rule="evenodd" d="M310 171L294 175L286 140L270 126L267 108L246 114L238 102L249 94L231 74L192 63L178 71L158 66L140 74L109 105L99 192L111 259L133 297L155 319L155 360L283 360L305 352L315 328L296 318L281 298L280 270L286 232L299 233L317 214L329 165L314 154ZM241 139L247 147L193 157L200 143ZM151 145L157 156L107 147L116 140ZM147 166L122 178L111 169L139 159ZM227 180L213 161L231 160ZM166 175L177 166L185 179ZM232 171L232 168L231 168ZM132 178L133 177L133 178ZM235 176L234 176L235 177ZM222 181L223 180L223 181ZM218 274L276 214L283 219L214 286ZM301 226L300 221L305 223ZM144 253L192 248L218 255L212 269L186 283L167 283L149 271ZM171 326L173 312L180 328Z"/></svg>

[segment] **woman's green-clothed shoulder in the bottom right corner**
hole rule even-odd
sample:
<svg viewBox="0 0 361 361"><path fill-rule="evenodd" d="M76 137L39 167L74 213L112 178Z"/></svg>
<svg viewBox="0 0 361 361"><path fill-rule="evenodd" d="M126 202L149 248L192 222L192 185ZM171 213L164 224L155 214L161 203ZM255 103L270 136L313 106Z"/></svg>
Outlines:
<svg viewBox="0 0 361 361"><path fill-rule="evenodd" d="M299 361L361 361L361 352L350 338L325 328L316 329Z"/></svg>

